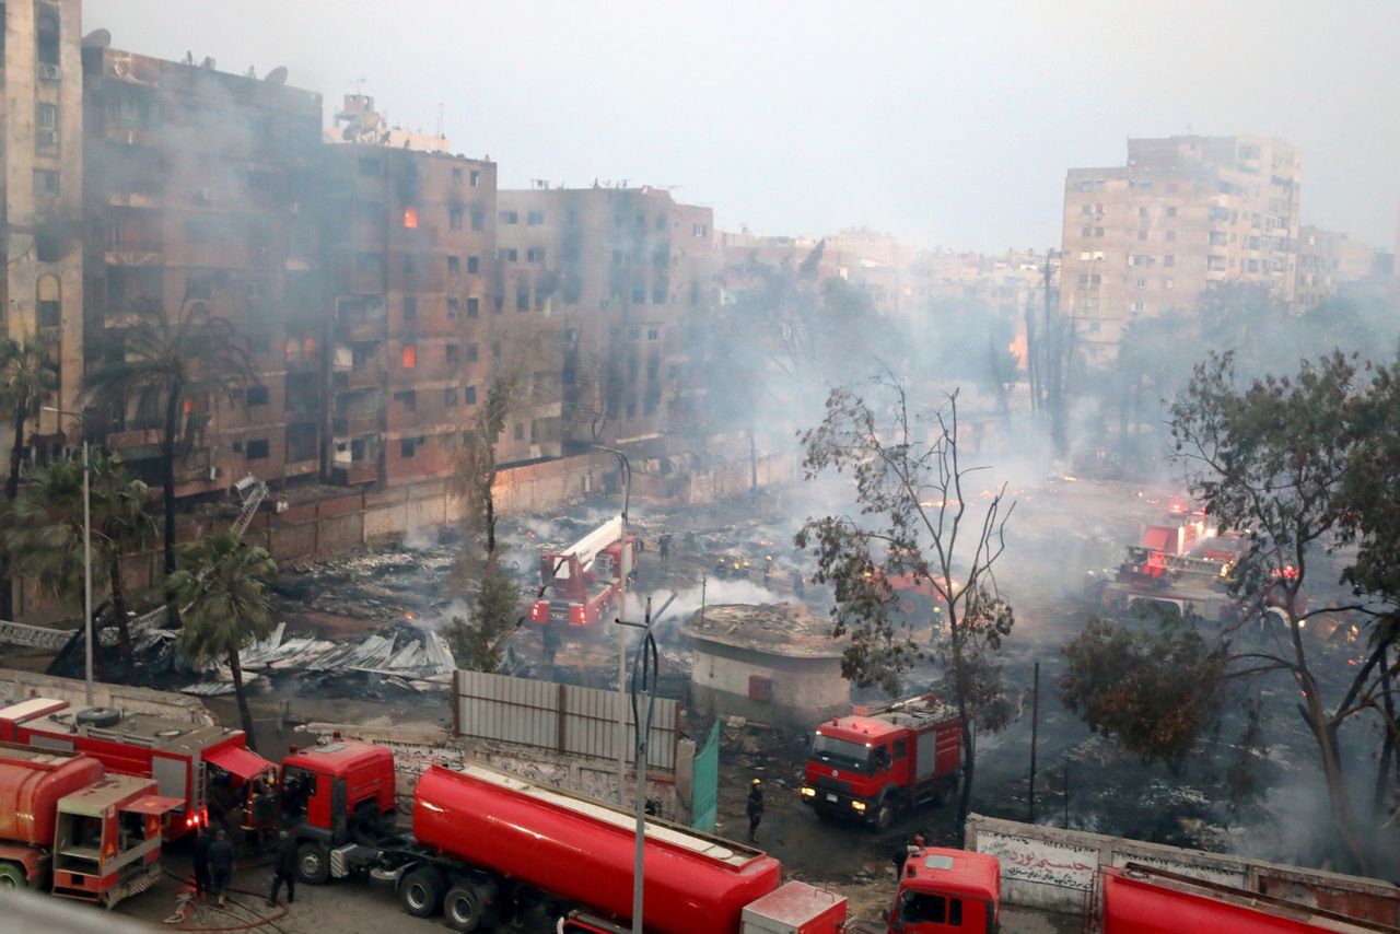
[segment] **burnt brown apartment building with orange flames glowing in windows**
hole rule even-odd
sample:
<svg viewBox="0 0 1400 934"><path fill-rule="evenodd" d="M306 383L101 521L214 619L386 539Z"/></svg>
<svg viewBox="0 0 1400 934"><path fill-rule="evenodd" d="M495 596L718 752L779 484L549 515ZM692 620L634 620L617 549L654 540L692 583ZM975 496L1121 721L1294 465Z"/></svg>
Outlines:
<svg viewBox="0 0 1400 934"><path fill-rule="evenodd" d="M332 314L326 479L445 479L476 423L501 339L496 164L343 143L323 147L322 165Z"/></svg>

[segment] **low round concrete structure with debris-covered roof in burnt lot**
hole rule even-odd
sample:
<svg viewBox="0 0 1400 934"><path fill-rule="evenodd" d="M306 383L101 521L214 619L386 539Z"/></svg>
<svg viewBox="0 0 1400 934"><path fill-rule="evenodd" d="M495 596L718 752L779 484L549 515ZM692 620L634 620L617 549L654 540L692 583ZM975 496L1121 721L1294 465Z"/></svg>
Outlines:
<svg viewBox="0 0 1400 934"><path fill-rule="evenodd" d="M846 646L799 604L707 606L682 633L694 643L694 710L799 730L851 711Z"/></svg>

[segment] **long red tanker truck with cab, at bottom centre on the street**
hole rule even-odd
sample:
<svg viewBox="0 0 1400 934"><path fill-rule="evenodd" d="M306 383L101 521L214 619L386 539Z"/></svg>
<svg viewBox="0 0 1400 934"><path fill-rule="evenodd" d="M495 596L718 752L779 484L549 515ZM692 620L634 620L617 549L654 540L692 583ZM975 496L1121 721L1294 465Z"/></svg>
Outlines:
<svg viewBox="0 0 1400 934"><path fill-rule="evenodd" d="M629 812L477 765L434 765L419 779L405 836L388 825L392 795L393 758L381 746L335 739L288 756L280 800L294 812L298 877L392 882L409 914L442 912L459 931L532 905L559 914L582 906L606 924L631 913ZM654 934L769 930L745 928L742 917L785 889L777 860L665 821L647 821L644 865ZM841 930L846 900L823 898L826 926L802 928L808 934Z"/></svg>

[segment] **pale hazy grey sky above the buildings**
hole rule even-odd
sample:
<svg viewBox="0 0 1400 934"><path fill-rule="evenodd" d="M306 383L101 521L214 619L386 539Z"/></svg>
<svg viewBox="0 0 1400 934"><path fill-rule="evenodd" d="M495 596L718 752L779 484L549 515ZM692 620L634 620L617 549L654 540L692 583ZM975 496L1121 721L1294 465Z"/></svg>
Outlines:
<svg viewBox="0 0 1400 934"><path fill-rule="evenodd" d="M438 105L504 188L679 186L724 228L1060 242L1064 172L1128 136L1303 151L1303 223L1394 248L1400 0L85 0L113 46Z"/></svg>

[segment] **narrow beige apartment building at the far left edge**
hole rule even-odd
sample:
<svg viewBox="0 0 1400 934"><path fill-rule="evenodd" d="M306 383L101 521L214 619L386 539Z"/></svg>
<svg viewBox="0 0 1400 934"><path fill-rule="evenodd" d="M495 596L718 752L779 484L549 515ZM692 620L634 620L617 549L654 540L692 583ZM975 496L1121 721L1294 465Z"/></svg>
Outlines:
<svg viewBox="0 0 1400 934"><path fill-rule="evenodd" d="M59 374L46 405L81 409L83 391L83 31L78 0L0 3L0 133L4 146L0 336L48 347ZM8 420L0 444L10 449ZM67 419L43 412L28 426L41 448Z"/></svg>

